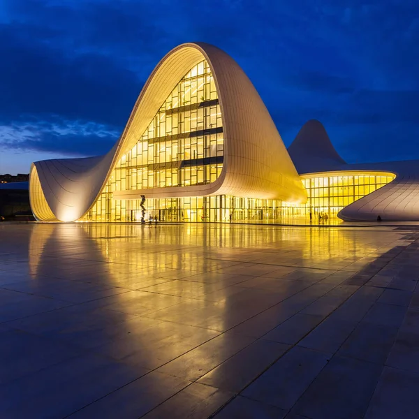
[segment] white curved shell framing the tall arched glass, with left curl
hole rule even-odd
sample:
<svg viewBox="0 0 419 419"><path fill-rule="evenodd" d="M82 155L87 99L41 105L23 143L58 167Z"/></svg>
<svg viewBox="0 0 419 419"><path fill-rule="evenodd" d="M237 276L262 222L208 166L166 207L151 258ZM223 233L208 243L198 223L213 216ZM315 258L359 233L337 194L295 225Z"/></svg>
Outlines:
<svg viewBox="0 0 419 419"><path fill-rule="evenodd" d="M224 133L221 175L206 185L115 193L115 198L233 195L305 202L307 193L269 112L240 66L205 43L187 43L159 62L135 103L124 132L108 154L33 163L29 193L37 219L76 221L96 202L122 154L135 145L183 75L206 59L219 96ZM45 202L41 202L45 198Z"/></svg>

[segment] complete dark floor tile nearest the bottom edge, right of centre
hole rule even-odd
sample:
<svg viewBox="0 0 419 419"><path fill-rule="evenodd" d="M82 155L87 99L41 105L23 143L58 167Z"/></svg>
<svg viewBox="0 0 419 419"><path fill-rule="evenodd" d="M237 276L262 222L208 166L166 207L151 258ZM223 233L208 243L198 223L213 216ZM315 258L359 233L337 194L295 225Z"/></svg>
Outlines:
<svg viewBox="0 0 419 419"><path fill-rule="evenodd" d="M253 381L242 395L281 409L291 409L329 359L328 353L295 346Z"/></svg>

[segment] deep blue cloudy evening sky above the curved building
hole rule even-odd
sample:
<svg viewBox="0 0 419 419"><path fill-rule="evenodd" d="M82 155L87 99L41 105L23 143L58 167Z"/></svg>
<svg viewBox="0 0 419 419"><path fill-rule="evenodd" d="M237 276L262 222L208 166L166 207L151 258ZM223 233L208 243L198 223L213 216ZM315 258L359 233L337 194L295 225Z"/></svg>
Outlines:
<svg viewBox="0 0 419 419"><path fill-rule="evenodd" d="M107 152L189 41L242 66L287 146L314 118L348 162L419 159L418 0L2 0L0 173Z"/></svg>

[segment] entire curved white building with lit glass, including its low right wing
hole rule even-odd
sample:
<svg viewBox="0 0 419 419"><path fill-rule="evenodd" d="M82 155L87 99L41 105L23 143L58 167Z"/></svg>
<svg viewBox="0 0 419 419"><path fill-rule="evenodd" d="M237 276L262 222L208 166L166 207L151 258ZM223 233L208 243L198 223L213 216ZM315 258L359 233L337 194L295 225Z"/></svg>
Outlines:
<svg viewBox="0 0 419 419"><path fill-rule="evenodd" d="M339 211L342 219L419 219L416 204L388 203L385 192L403 194L411 179L407 166L388 164L346 164L316 121L287 151L240 66L212 45L187 43L156 66L108 154L33 163L29 194L38 221L259 221ZM348 191L340 196L339 187Z"/></svg>

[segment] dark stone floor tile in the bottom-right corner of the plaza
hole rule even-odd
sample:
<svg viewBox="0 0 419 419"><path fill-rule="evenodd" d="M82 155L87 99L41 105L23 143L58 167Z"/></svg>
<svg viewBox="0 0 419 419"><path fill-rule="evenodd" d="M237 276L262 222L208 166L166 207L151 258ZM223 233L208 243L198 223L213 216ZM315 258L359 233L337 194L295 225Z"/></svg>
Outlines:
<svg viewBox="0 0 419 419"><path fill-rule="evenodd" d="M419 374L385 367L365 419L419 418Z"/></svg>

